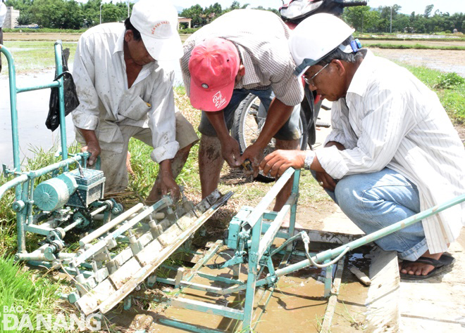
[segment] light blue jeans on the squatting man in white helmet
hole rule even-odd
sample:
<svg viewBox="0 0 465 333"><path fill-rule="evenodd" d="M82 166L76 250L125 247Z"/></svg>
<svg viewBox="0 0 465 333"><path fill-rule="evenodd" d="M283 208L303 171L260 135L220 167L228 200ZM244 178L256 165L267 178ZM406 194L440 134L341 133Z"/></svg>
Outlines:
<svg viewBox="0 0 465 333"><path fill-rule="evenodd" d="M416 185L391 169L346 176L328 195L367 235L420 212ZM400 259L416 261L428 250L421 221L376 240L385 251L397 251Z"/></svg>

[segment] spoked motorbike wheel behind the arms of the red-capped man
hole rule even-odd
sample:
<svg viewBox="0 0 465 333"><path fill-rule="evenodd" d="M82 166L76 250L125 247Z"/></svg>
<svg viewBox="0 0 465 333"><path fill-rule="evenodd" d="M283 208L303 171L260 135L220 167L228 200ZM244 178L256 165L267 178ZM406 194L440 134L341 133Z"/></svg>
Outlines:
<svg viewBox="0 0 465 333"><path fill-rule="evenodd" d="M300 107L296 106L296 107ZM255 143L256 139L261 133L261 129L265 124L266 120L266 110L263 105L260 103L260 99L253 95L249 94L240 105L237 107L234 117L233 128L231 129L231 134L233 138L239 142L241 153ZM303 110L300 110L299 117L299 130L302 133L302 136L299 139L299 147L301 150L305 150L307 146L307 136L306 133L306 118ZM275 151L275 139L272 138L270 143L264 149L264 156ZM255 178L256 181L261 181L263 183L270 183L275 181L275 178L271 176L264 175L261 171L258 176Z"/></svg>

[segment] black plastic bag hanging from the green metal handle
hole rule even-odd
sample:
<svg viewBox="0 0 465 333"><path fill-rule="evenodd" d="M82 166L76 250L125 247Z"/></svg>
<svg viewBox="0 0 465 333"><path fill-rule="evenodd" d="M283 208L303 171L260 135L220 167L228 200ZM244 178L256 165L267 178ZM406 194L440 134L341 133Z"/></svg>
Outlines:
<svg viewBox="0 0 465 333"><path fill-rule="evenodd" d="M56 75L55 79L61 79L63 77L63 93L65 98L65 117L73 111L77 105L79 105L79 99L77 98L76 86L74 84L73 75L68 71L68 56L69 48L65 48L62 54L63 60L63 73ZM55 131L60 125L60 100L58 88L52 88L50 93L49 101L49 115L46 117L45 126L52 132Z"/></svg>

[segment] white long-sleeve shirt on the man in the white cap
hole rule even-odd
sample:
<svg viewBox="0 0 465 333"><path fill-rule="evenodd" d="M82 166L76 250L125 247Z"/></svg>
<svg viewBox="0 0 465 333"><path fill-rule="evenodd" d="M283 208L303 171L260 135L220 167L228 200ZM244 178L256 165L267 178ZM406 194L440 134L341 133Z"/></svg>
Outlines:
<svg viewBox="0 0 465 333"><path fill-rule="evenodd" d="M150 128L155 162L172 159L175 141L174 72L156 63L142 67L128 88L123 54L125 27L106 23L87 30L77 43L73 77L80 105L73 111L79 129L94 130L100 147L123 151L120 125Z"/></svg>

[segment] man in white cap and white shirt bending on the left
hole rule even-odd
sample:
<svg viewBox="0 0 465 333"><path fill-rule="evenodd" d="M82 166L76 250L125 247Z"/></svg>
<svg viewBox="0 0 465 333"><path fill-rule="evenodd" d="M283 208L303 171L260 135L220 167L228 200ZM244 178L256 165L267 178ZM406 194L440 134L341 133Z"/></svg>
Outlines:
<svg viewBox="0 0 465 333"><path fill-rule="evenodd" d="M77 44L73 76L80 105L73 111L76 138L91 152L89 164L101 156L106 192L128 185L126 157L131 137L154 150L159 176L147 202L171 193L190 148L198 140L192 125L175 112L173 72L159 60L178 60L182 46L178 13L167 1L140 0L122 23L87 30Z"/></svg>

